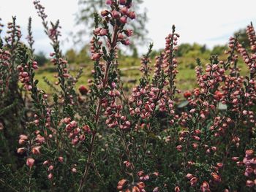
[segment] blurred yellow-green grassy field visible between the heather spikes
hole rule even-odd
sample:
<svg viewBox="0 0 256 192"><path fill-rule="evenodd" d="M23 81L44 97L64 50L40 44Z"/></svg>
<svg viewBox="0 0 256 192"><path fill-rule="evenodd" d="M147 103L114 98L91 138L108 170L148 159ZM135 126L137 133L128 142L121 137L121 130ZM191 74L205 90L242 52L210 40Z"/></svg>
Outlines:
<svg viewBox="0 0 256 192"><path fill-rule="evenodd" d="M200 57L201 56L201 57ZM209 60L209 55L199 55L203 64L207 64ZM181 91L192 90L196 86L196 77L195 77L195 66L196 62L195 59L197 57L195 55L190 55L189 57L178 58L178 75L177 75L177 88ZM226 55L220 55L220 59L225 60ZM154 69L154 60L152 61L151 68ZM238 66L241 68L241 75L245 75L248 73L247 66L243 64L241 61L239 62ZM93 64L70 64L69 69L72 75L77 74L80 67L83 68L83 74L78 80L76 88L80 85L87 85L87 80L92 78L91 70L93 69ZM119 68L121 69L121 77L123 80L137 80L136 83L127 83L124 81L124 86L127 88L132 88L134 85L138 83L138 80L141 77L140 72L140 59L139 58L132 58L132 57L120 57L119 58ZM36 79L39 80L39 88L44 90L46 93L53 93L53 90L47 85L47 83L43 80L43 77L46 77L50 82L56 81L56 78L53 77L56 74L55 68L52 64L45 64L39 68L36 72Z"/></svg>

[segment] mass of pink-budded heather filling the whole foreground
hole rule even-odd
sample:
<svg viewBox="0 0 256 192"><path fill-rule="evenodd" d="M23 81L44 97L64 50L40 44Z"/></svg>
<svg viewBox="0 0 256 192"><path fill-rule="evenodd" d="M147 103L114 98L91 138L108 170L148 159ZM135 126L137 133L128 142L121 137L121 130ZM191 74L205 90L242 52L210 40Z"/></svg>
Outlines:
<svg viewBox="0 0 256 192"><path fill-rule="evenodd" d="M118 48L129 45L129 22L135 12L132 1L107 0L106 4L109 9L94 14L93 78L78 91L75 83L83 72L70 74L61 53L59 20L48 21L39 1L34 6L51 41L50 57L56 68L56 82L45 82L54 94L38 86L31 19L28 45L18 43L20 32L14 33L17 39L11 45L1 44L2 96L17 73L20 90L26 93L21 98L33 106L27 107L22 133L14 136L17 153L5 157L18 158L13 163L17 167L1 165L0 188L255 191L256 35L252 24L246 29L250 50L237 36L230 37L225 60L212 55L204 65L197 59L197 87L183 94L176 86L179 34L173 26L154 65L153 44L149 45L141 58L140 81L127 92L118 69ZM245 77L239 73L239 57L248 67ZM1 123L0 129L4 137L6 126Z"/></svg>

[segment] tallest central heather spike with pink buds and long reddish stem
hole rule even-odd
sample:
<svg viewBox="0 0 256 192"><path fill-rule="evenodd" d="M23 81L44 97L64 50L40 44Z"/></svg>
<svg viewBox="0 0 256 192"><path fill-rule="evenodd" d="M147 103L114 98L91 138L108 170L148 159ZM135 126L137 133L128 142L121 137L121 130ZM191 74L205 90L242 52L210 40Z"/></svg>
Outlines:
<svg viewBox="0 0 256 192"><path fill-rule="evenodd" d="M96 96L97 102L94 104L94 130L91 136L91 150L89 158L80 180L78 191L81 191L89 173L92 154L94 153L94 140L97 134L99 119L102 112L107 117L106 124L109 128L119 127L129 129L131 123L122 115L123 106L118 104L121 93L116 89L118 82L117 50L118 44L129 45L129 37L132 31L125 29L130 19L135 18L135 13L130 11L132 0L121 5L118 1L107 0L106 4L110 10L101 12L102 23L99 23L99 15L95 14L94 37L91 39L91 58L94 61L94 83L91 85L91 95ZM106 44L103 44L106 42Z"/></svg>

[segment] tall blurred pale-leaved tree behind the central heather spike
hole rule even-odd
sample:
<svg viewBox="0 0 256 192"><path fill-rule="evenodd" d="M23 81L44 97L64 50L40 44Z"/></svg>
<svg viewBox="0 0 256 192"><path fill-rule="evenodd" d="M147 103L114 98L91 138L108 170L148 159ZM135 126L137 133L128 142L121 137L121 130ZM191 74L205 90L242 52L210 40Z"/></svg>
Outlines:
<svg viewBox="0 0 256 192"><path fill-rule="evenodd" d="M127 0L129 1L129 0ZM105 0L79 0L80 10L77 16L77 23L84 24L86 29L79 31L77 37L80 41L83 34L89 34L94 27L94 12L98 10L104 10L107 6ZM146 9L140 11L140 7L143 4L143 0L135 0L132 4L132 10L136 12L136 20L132 22L130 28L133 30L133 42L132 45L140 45L145 42L146 34L148 33L146 29L146 22L148 21ZM136 42L136 43L135 43ZM134 46L132 46L134 47Z"/></svg>

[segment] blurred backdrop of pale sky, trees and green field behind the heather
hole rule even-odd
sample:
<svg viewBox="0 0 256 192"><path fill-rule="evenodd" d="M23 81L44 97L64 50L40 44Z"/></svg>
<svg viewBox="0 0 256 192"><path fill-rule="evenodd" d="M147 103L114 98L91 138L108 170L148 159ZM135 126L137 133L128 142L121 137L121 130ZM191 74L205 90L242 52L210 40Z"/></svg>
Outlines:
<svg viewBox="0 0 256 192"><path fill-rule="evenodd" d="M0 0L1 2L2 0ZM105 0L42 0L48 20L60 20L61 48L69 60L72 72L83 67L83 77L78 86L87 83L91 77L92 63L89 53L89 39L93 28L93 13L105 9ZM15 6L13 6L15 4ZM162 48L165 37L171 26L176 25L179 39L178 56L178 88L186 90L195 85L195 59L201 58L206 64L211 55L218 54L224 59L224 51L230 36L240 34L239 38L245 46L246 26L255 22L256 1L253 0L134 0L136 20L130 22L134 30L132 45L121 47L120 68L124 82L134 82L140 77L140 56L146 53L150 42L154 42L151 55L152 64ZM1 3L0 18L2 23L17 16L21 27L23 41L26 42L27 23L32 18L32 31L35 39L35 50L40 69L37 71L39 86L50 93L50 88L42 79L53 81L54 67L49 63L48 37L45 35L40 18L31 0L9 0ZM2 36L5 34L2 33ZM241 66L241 73L246 66ZM187 83L189 82L189 83ZM131 85L131 84L130 84Z"/></svg>

